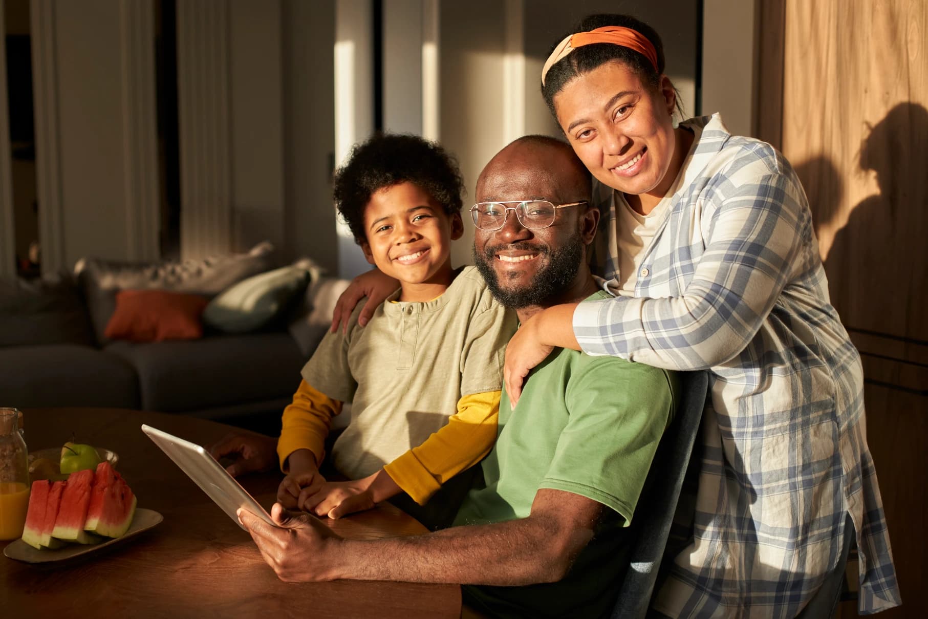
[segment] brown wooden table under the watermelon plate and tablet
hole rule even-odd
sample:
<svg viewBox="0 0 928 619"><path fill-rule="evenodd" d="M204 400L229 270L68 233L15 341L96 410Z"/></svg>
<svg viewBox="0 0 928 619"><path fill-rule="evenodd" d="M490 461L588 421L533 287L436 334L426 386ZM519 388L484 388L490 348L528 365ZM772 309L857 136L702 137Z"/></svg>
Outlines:
<svg viewBox="0 0 928 619"><path fill-rule="evenodd" d="M117 470L138 507L164 516L122 544L63 562L29 564L0 556L4 617L458 617L460 587L335 581L288 584L264 563L251 536L216 507L140 429L148 423L200 445L232 428L183 415L113 408L24 411L30 450L71 440L117 452ZM278 472L240 483L270 508ZM416 535L426 529L392 505L326 521L345 537ZM0 542L0 548L6 542Z"/></svg>

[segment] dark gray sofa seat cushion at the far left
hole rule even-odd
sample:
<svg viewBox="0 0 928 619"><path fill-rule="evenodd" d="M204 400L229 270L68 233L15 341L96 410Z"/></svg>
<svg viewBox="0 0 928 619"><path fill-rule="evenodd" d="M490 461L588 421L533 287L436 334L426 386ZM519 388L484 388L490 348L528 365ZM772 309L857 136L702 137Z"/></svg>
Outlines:
<svg viewBox="0 0 928 619"><path fill-rule="evenodd" d="M0 349L0 400L3 406L17 408L138 408L138 383L133 368L96 348L14 346ZM63 428L62 432L71 431Z"/></svg>

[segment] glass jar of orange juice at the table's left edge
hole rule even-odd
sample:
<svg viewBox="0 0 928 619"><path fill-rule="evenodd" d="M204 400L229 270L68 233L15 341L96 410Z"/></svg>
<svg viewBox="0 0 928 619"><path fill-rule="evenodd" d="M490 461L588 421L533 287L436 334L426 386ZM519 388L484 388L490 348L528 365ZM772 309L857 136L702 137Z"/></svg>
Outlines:
<svg viewBox="0 0 928 619"><path fill-rule="evenodd" d="M29 507L29 451L20 419L16 408L0 407L0 540L22 536Z"/></svg>

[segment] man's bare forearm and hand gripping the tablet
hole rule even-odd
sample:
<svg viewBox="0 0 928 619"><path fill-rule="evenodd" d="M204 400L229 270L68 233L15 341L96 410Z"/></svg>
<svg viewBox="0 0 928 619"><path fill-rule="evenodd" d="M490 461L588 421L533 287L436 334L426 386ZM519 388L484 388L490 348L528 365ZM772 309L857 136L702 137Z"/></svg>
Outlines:
<svg viewBox="0 0 928 619"><path fill-rule="evenodd" d="M527 518L378 540L342 539L313 516L283 514L278 505L272 517L283 529L247 512L240 519L284 581L519 586L561 580L596 533L602 509L585 496L542 489Z"/></svg>

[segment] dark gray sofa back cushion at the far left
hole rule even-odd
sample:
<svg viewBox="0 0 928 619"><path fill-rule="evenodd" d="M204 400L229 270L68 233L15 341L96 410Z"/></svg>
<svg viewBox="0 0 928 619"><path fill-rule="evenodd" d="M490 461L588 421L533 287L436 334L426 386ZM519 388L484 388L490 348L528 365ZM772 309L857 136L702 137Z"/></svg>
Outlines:
<svg viewBox="0 0 928 619"><path fill-rule="evenodd" d="M56 343L94 344L73 278L0 277L0 347Z"/></svg>

